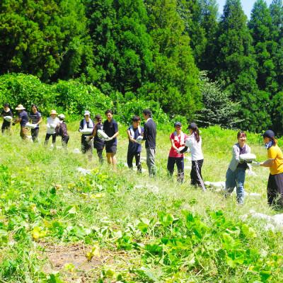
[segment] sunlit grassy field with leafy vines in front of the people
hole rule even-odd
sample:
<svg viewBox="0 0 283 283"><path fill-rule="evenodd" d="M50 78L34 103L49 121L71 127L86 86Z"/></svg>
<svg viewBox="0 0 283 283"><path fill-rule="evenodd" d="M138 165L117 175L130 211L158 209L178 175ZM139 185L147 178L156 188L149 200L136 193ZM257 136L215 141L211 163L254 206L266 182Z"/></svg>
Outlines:
<svg viewBox="0 0 283 283"><path fill-rule="evenodd" d="M44 126L38 144L24 144L18 127L0 137L0 282L283 282L282 231L243 221L250 209L278 213L267 206L266 168L246 177L246 191L260 197L237 206L235 195L190 187L189 160L185 183L168 180L170 127L158 131L151 179L125 167L126 127L113 172L96 152L93 161L73 153L80 134L68 126L68 154L42 145ZM204 180L224 181L236 132L210 127L202 140ZM258 135L248 144L265 160Z"/></svg>

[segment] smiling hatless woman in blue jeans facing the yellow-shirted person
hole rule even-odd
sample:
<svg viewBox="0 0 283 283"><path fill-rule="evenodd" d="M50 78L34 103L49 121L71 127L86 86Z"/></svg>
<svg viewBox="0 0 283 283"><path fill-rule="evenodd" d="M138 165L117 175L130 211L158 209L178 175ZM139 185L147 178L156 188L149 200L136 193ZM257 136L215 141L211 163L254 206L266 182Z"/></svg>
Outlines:
<svg viewBox="0 0 283 283"><path fill-rule="evenodd" d="M246 132L238 132L237 139L238 142L232 147L232 159L226 172L225 195L226 197L230 195L236 187L236 200L238 204L243 204L245 197L244 184L248 163L243 161L241 154L250 154L250 146L246 144Z"/></svg>

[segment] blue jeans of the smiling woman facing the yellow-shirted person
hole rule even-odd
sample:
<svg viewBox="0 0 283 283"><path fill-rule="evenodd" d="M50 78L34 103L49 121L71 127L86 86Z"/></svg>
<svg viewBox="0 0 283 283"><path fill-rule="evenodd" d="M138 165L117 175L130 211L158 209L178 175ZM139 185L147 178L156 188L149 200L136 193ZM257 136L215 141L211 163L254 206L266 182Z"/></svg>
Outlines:
<svg viewBox="0 0 283 283"><path fill-rule="evenodd" d="M245 196L245 190L243 188L245 184L245 177L246 177L245 168L236 168L235 171L231 171L231 169L228 168L226 172L225 190L226 192L231 193L236 187L237 202L239 204L243 204L243 198Z"/></svg>

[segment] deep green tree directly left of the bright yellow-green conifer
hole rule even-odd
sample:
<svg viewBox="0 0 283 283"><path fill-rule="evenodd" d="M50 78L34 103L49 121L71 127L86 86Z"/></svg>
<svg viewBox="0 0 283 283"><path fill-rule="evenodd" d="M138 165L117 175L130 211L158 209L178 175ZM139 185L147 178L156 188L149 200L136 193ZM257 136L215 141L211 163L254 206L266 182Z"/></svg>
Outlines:
<svg viewBox="0 0 283 283"><path fill-rule="evenodd" d="M153 67L142 0L87 0L97 83L105 93L134 92Z"/></svg>

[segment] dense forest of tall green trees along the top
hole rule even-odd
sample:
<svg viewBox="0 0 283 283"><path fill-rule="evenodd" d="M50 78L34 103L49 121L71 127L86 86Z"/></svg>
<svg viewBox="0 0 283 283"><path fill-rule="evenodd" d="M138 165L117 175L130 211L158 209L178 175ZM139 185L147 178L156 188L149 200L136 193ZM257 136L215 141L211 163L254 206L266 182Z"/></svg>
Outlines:
<svg viewBox="0 0 283 283"><path fill-rule="evenodd" d="M0 74L76 80L168 115L283 133L283 4L1 0ZM0 89L1 91L1 89Z"/></svg>

